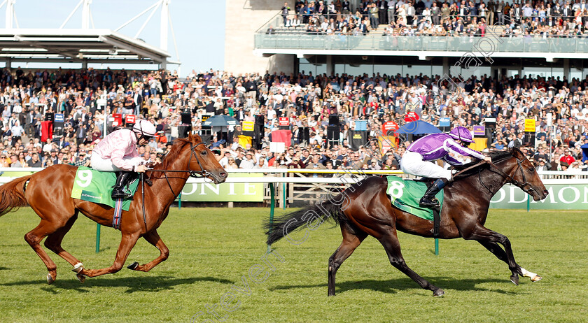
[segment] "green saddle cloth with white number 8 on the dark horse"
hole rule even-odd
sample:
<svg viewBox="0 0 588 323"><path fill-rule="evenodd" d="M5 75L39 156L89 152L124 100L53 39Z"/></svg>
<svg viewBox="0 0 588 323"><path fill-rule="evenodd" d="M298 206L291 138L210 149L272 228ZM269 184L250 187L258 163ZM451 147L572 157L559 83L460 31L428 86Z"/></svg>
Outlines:
<svg viewBox="0 0 588 323"><path fill-rule="evenodd" d="M388 188L386 194L390 196L392 206L399 210L405 211L425 220L433 221L433 210L430 208L421 208L419 201L427 191L427 185L424 182L415 180L402 180L398 176L387 176ZM443 190L437 193L435 197L443 206Z"/></svg>

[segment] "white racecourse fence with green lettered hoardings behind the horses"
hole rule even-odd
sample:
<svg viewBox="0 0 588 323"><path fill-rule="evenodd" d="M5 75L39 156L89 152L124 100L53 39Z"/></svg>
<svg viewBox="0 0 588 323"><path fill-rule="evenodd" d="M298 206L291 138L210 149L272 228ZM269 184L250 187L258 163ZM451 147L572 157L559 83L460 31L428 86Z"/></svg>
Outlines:
<svg viewBox="0 0 588 323"><path fill-rule="evenodd" d="M43 168L0 168L0 185L41 171ZM314 170L286 168L227 169L225 184L214 185L204 178L189 178L182 191L184 202L257 202L269 205L274 201L280 208L298 207L323 201L334 192L367 176L399 175L402 171ZM549 196L544 201L532 201L521 189L505 185L493 198L491 208L588 210L588 172L539 171ZM181 203L181 202L180 202Z"/></svg>

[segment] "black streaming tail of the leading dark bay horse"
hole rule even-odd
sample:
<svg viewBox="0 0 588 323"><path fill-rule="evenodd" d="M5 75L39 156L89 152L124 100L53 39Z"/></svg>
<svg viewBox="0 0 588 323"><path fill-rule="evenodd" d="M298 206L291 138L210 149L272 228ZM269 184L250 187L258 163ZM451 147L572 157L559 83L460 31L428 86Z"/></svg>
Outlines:
<svg viewBox="0 0 588 323"><path fill-rule="evenodd" d="M335 197L335 201L339 201L337 197ZM333 203L331 199L321 201L281 217L276 217L272 222L268 221L264 224L267 230L267 244L271 245L293 231L301 229L304 224L307 224L309 229L314 230L325 220L335 222L335 225L342 225L346 222L346 217L339 203Z"/></svg>

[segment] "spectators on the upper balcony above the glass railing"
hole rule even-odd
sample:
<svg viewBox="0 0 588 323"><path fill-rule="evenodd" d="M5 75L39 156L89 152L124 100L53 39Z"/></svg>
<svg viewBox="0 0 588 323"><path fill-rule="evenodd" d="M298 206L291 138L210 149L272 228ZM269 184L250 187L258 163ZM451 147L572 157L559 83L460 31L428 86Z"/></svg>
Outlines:
<svg viewBox="0 0 588 323"><path fill-rule="evenodd" d="M362 0L284 3L283 27L309 34L386 36L484 36L488 26L502 37L588 36L588 3L573 1ZM384 29L379 28L384 26ZM270 26L267 34L275 34Z"/></svg>

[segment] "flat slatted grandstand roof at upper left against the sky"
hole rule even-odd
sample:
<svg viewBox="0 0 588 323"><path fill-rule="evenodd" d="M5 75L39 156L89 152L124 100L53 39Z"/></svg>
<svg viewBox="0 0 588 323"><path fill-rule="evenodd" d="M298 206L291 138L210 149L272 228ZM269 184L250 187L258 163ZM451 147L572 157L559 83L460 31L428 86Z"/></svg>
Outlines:
<svg viewBox="0 0 588 323"><path fill-rule="evenodd" d="M161 48L111 29L0 29L0 62L167 64Z"/></svg>

